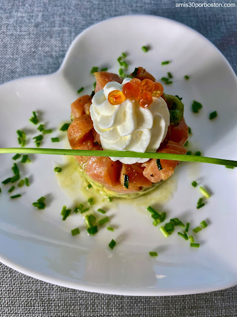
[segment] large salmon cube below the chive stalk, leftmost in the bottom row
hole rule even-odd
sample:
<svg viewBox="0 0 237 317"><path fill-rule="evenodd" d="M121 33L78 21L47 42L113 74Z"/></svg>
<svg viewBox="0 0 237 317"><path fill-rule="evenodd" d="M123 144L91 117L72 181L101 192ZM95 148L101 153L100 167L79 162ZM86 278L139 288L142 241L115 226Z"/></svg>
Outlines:
<svg viewBox="0 0 237 317"><path fill-rule="evenodd" d="M85 166L86 174L93 180L109 186L119 183L121 163L107 157L92 157Z"/></svg>

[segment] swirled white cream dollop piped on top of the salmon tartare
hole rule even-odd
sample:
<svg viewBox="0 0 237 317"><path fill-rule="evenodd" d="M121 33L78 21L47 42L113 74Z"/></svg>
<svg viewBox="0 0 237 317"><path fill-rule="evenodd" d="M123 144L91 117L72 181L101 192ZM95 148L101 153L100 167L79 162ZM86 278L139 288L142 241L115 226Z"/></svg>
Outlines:
<svg viewBox="0 0 237 317"><path fill-rule="evenodd" d="M109 82L92 98L90 115L94 129L100 135L104 150L153 152L164 140L169 126L169 110L162 98L153 97L150 106L142 108L135 100L127 99L122 104L111 105L108 95L113 90L122 91L121 84ZM149 159L110 158L124 164L143 163Z"/></svg>

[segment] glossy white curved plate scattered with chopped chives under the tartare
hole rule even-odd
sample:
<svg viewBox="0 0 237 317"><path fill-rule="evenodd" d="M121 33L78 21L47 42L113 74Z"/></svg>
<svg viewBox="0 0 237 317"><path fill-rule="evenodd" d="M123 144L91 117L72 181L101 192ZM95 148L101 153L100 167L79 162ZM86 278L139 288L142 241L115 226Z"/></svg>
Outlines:
<svg viewBox="0 0 237 317"><path fill-rule="evenodd" d="M144 53L143 45L150 45L151 50ZM48 128L59 127L70 117L70 104L77 98L77 90L84 86L85 93L91 92L91 67L109 66L109 71L117 72L121 52L128 53L129 72L141 65L157 79L166 76L167 71L173 74L174 83L164 85L165 92L183 97L185 119L193 131L190 143L195 150L205 156L237 159L237 78L227 60L187 26L138 15L113 18L82 32L56 73L2 85L0 147L17 146L17 129L36 130L28 122L33 110L41 111ZM171 63L161 66L163 60ZM190 75L189 81L184 80L186 74ZM191 111L193 100L203 104L198 114ZM218 117L210 121L208 114L213 110L218 111ZM52 134L57 135L57 131ZM43 147L55 147L50 137ZM11 175L11 157L0 156L0 180ZM105 226L96 236L87 236L79 214L62 221L62 206L73 203L54 175L53 167L61 161L61 157L39 155L33 156L31 165L19 164L22 175L30 175L32 183L29 188L14 191L23 194L20 199L10 201L9 187L1 184L3 264L47 282L110 294L182 295L237 284L237 169L182 163L168 185L161 185L161 192L167 187L173 194L166 203L154 206L166 211L168 218L181 217L192 227L202 219L209 221L206 229L194 234L201 244L196 249L177 235L177 229L164 238L145 211L149 202L139 207L144 212L133 206L136 201L111 204L108 215L115 232ZM200 194L191 186L194 179L212 192L206 206L199 210L196 203ZM32 207L46 194L44 211ZM70 231L77 226L81 233L73 237ZM113 251L108 248L112 238L117 241ZM158 257L151 258L149 251L158 251Z"/></svg>

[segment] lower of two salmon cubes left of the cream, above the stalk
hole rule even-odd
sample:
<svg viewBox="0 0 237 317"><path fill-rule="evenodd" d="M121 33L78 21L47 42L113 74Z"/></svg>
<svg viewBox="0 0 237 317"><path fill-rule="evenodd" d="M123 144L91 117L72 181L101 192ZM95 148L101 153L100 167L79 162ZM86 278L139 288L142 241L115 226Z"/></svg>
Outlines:
<svg viewBox="0 0 237 317"><path fill-rule="evenodd" d="M71 148L76 149L84 141L91 129L93 129L93 122L90 116L83 114L76 118L68 128L68 141Z"/></svg>

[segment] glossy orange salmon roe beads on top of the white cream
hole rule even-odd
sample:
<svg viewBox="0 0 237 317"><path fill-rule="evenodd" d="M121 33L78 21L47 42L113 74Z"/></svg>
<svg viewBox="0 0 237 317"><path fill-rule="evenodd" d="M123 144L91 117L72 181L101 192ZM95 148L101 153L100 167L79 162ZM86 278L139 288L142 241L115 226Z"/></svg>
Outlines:
<svg viewBox="0 0 237 317"><path fill-rule="evenodd" d="M126 83L120 90L114 90L109 93L108 101L111 105L122 104L126 99L136 100L143 108L150 106L153 102L153 97L160 97L163 94L163 86L158 82L153 82L151 79L133 78Z"/></svg>

